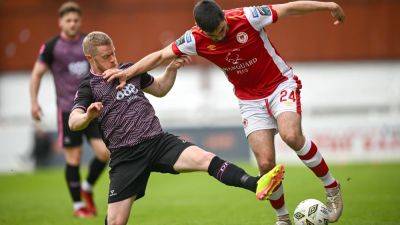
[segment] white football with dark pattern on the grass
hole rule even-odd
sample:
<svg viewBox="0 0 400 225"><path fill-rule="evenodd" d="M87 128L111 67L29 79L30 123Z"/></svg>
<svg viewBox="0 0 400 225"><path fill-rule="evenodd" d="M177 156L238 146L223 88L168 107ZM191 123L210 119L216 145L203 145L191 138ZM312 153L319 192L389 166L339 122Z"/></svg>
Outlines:
<svg viewBox="0 0 400 225"><path fill-rule="evenodd" d="M294 210L295 225L327 225L329 209L322 202L315 199L307 199Z"/></svg>

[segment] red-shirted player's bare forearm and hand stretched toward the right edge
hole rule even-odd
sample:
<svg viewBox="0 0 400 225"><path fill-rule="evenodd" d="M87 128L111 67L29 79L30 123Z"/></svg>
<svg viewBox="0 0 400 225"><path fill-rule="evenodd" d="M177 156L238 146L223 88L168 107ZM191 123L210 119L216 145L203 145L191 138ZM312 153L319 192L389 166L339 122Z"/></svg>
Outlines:
<svg viewBox="0 0 400 225"><path fill-rule="evenodd" d="M285 4L276 4L273 5L273 8L277 12L279 19L292 15L303 15L317 11L329 11L335 19L335 25L339 25L345 20L343 9L335 2L295 1Z"/></svg>

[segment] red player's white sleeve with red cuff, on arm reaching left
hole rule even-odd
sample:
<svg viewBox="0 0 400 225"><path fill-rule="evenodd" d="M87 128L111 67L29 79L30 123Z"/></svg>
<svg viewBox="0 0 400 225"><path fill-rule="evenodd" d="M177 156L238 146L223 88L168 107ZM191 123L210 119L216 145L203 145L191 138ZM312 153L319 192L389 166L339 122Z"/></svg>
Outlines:
<svg viewBox="0 0 400 225"><path fill-rule="evenodd" d="M186 31L182 37L172 43L172 51L177 56L197 55L196 40L191 30Z"/></svg>

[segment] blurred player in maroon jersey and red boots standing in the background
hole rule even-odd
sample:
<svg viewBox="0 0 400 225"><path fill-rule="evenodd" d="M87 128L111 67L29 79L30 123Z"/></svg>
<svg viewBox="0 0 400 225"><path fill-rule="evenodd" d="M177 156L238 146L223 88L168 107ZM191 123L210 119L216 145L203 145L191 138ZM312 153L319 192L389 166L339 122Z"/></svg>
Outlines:
<svg viewBox="0 0 400 225"><path fill-rule="evenodd" d="M81 9L79 5L74 2L66 2L60 7L59 26L61 33L41 47L39 59L32 71L30 84L31 113L37 121L42 117L38 92L43 75L50 70L56 87L58 136L65 153L65 177L73 200L73 214L76 217L92 217L96 214L92 194L93 185L104 170L109 156L101 139L97 121L93 121L85 130L80 132L73 132L68 127L68 117L75 93L80 82L89 72L89 64L82 51L84 35L80 33ZM90 162L89 174L81 185L79 164L83 136L86 136L90 142L95 157ZM85 200L85 203L81 197Z"/></svg>

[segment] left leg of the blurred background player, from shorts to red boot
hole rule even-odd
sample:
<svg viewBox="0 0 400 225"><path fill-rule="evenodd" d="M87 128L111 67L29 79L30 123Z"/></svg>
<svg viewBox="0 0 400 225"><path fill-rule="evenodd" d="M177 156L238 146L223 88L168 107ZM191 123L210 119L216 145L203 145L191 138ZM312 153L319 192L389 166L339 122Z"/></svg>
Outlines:
<svg viewBox="0 0 400 225"><path fill-rule="evenodd" d="M69 113L59 114L59 142L63 146L66 161L65 179L73 201L74 216L91 217L93 214L87 210L81 199L81 176L79 165L81 161L82 134L73 132L68 126Z"/></svg>

